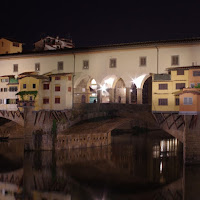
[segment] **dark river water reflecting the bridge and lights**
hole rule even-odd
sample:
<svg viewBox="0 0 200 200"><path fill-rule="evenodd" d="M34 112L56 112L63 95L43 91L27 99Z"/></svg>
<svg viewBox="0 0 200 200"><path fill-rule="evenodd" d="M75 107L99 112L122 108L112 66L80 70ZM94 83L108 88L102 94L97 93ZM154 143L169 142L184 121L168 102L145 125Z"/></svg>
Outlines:
<svg viewBox="0 0 200 200"><path fill-rule="evenodd" d="M0 143L0 200L200 199L200 167L163 132L114 136L112 145L25 152Z"/></svg>

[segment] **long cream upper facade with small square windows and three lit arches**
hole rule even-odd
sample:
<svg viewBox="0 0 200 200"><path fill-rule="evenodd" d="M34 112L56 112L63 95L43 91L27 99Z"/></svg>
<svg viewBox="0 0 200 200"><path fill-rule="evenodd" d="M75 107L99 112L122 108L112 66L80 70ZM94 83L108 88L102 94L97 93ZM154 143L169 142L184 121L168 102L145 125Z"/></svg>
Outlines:
<svg viewBox="0 0 200 200"><path fill-rule="evenodd" d="M73 74L73 103L96 98L102 103L151 104L152 74L198 65L199 52L197 38L5 55L0 56L0 75L57 70Z"/></svg>

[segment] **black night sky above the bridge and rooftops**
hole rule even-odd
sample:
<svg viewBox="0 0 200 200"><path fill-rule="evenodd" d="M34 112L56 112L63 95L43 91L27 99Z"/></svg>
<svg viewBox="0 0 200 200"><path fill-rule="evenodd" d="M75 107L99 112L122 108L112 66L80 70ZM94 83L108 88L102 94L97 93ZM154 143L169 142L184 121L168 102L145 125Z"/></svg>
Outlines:
<svg viewBox="0 0 200 200"><path fill-rule="evenodd" d="M76 47L200 36L200 1L2 1L0 36L26 46L44 34L70 34Z"/></svg>

